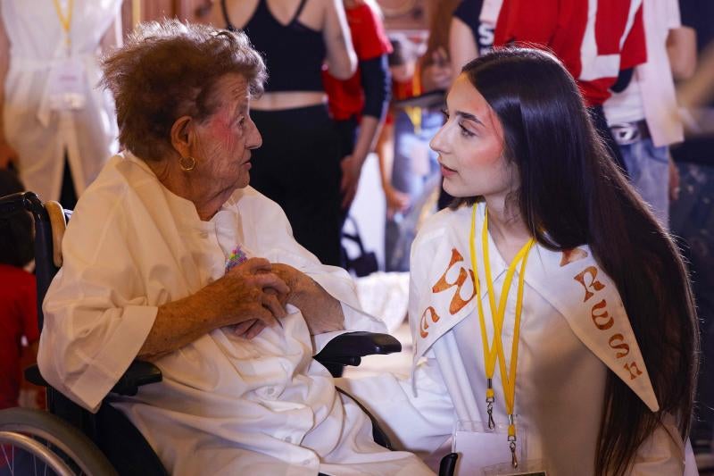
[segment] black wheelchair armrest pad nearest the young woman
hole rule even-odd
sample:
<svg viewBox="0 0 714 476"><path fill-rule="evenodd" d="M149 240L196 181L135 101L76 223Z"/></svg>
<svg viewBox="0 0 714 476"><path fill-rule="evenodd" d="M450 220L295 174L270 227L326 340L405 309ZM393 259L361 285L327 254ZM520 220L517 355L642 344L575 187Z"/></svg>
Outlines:
<svg viewBox="0 0 714 476"><path fill-rule="evenodd" d="M402 344L389 334L347 332L333 338L314 359L320 363L359 365L364 355L400 352Z"/></svg>

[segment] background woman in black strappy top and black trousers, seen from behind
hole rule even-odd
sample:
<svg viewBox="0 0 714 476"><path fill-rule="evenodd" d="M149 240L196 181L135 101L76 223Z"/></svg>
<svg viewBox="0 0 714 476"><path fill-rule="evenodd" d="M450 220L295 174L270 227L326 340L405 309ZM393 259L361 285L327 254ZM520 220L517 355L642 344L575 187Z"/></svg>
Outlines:
<svg viewBox="0 0 714 476"><path fill-rule="evenodd" d="M253 153L251 185L283 208L298 243L320 262L339 265L342 154L321 70L327 63L337 79L355 71L342 3L221 0L213 23L243 29L270 71L252 106L264 146Z"/></svg>

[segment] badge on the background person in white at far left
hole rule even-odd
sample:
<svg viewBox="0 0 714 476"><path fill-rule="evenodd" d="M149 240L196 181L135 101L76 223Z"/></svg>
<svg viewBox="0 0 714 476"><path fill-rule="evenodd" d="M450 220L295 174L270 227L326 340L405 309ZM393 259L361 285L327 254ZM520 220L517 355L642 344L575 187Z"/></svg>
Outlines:
<svg viewBox="0 0 714 476"><path fill-rule="evenodd" d="M85 105L84 65L77 58L66 58L53 63L48 81L50 109L70 111Z"/></svg>

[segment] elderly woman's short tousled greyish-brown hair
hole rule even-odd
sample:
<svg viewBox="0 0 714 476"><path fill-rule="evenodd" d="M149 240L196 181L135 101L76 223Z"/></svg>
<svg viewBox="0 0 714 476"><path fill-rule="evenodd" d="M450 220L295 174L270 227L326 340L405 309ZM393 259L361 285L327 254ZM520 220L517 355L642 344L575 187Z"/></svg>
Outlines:
<svg viewBox="0 0 714 476"><path fill-rule="evenodd" d="M173 151L174 121L184 115L203 121L214 112L218 79L241 74L251 95L260 96L267 78L265 63L245 33L177 20L139 24L102 66L102 84L116 103L120 142L155 161Z"/></svg>

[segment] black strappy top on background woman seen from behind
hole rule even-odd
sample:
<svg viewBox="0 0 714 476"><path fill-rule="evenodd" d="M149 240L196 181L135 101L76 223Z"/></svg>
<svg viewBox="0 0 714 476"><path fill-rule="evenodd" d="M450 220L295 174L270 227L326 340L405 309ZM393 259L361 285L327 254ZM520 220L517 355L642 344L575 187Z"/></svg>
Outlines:
<svg viewBox="0 0 714 476"><path fill-rule="evenodd" d="M286 25L270 13L267 0L258 0L253 16L243 28L253 47L262 53L268 66L267 92L323 91L321 69L327 49L322 32L306 27L297 18L307 0ZM237 28L228 18L226 0L220 0L228 29Z"/></svg>

